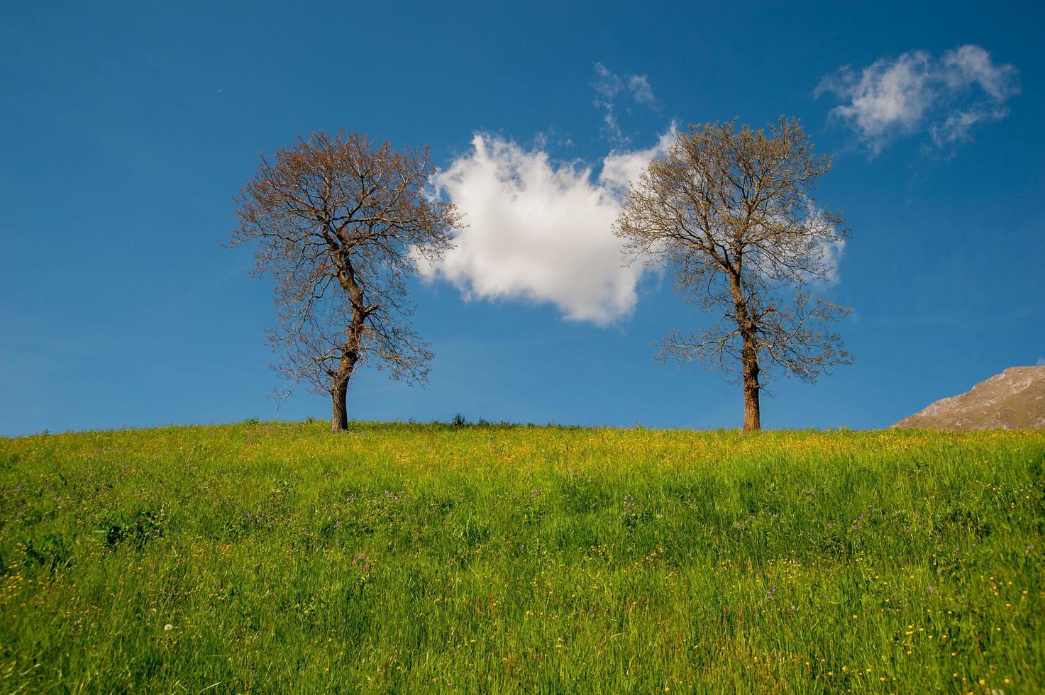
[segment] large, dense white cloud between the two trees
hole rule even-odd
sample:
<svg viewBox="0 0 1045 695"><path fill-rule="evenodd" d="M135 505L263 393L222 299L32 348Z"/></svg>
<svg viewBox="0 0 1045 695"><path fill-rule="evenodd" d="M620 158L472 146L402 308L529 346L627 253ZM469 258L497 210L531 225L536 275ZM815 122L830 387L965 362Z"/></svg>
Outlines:
<svg viewBox="0 0 1045 695"><path fill-rule="evenodd" d="M673 125L649 149L610 153L596 178L541 148L475 134L471 150L433 177L468 226L426 274L468 298L550 303L571 320L605 325L627 316L643 268L622 267L613 222L628 181L674 136Z"/></svg>

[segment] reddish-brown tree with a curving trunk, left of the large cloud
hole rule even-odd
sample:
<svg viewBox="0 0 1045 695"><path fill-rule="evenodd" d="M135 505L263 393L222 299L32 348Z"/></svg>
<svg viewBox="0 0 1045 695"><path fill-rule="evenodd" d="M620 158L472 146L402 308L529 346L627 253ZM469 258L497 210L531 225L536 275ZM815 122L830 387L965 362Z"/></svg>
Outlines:
<svg viewBox="0 0 1045 695"><path fill-rule="evenodd" d="M368 360L392 378L427 378L432 358L409 317L405 279L417 258L450 248L457 208L427 196L428 150L394 150L366 135L298 138L240 191L232 245L256 246L256 275L276 280L274 368L332 400L330 426L348 428L346 396Z"/></svg>

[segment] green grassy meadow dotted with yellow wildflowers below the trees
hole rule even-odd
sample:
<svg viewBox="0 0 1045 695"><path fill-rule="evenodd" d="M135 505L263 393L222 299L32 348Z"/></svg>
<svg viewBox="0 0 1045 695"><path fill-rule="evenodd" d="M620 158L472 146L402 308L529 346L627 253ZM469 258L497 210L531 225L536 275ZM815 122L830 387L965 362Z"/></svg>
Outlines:
<svg viewBox="0 0 1045 695"><path fill-rule="evenodd" d="M1045 434L0 439L0 692L1045 690Z"/></svg>

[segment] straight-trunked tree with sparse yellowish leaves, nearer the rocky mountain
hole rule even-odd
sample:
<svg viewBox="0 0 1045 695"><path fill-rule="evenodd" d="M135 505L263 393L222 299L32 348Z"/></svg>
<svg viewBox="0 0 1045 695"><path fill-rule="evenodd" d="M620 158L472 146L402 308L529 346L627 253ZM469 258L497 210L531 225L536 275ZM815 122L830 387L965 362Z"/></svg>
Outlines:
<svg viewBox="0 0 1045 695"><path fill-rule="evenodd" d="M626 256L667 263L683 300L719 315L706 330L670 333L657 357L739 372L745 432L762 426L759 393L774 371L815 381L852 363L830 328L849 309L808 292L849 235L813 200L830 168L795 119L768 133L693 125L630 186L617 221Z"/></svg>

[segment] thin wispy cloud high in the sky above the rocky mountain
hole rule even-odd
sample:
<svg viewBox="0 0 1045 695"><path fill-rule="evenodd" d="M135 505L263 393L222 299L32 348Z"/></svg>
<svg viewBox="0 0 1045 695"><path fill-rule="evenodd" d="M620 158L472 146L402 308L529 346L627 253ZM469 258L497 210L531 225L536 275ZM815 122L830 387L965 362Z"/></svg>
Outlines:
<svg viewBox="0 0 1045 695"><path fill-rule="evenodd" d="M814 95L840 97L831 114L878 154L890 139L918 132L940 147L968 140L976 123L1008 115L1004 102L1020 92L1017 75L967 45L939 59L923 50L879 59L859 73L846 66L821 79Z"/></svg>

